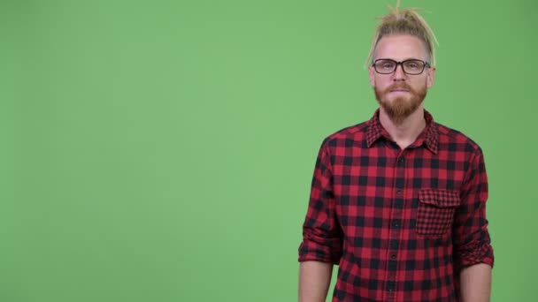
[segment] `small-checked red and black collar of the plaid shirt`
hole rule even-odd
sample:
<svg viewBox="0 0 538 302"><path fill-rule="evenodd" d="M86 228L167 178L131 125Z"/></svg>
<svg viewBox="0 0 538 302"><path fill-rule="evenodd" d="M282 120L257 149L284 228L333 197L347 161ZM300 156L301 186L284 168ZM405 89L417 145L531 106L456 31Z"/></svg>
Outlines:
<svg viewBox="0 0 538 302"><path fill-rule="evenodd" d="M434 117L425 109L424 119L426 119L426 128L420 133L419 137L411 146L419 147L425 144L426 147L433 153L437 153L439 145L439 129L436 123L434 123ZM380 123L380 109L377 109L373 114L373 117L367 122L368 127L366 129L366 145L372 147L373 143L380 138L390 139L390 135L387 130L383 128Z"/></svg>

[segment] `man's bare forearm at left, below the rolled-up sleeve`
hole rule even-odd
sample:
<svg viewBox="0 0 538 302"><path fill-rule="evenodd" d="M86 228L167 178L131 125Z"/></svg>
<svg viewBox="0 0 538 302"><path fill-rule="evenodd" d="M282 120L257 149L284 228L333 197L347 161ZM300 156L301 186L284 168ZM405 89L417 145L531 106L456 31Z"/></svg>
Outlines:
<svg viewBox="0 0 538 302"><path fill-rule="evenodd" d="M331 283L333 264L319 261L301 262L299 302L324 302Z"/></svg>

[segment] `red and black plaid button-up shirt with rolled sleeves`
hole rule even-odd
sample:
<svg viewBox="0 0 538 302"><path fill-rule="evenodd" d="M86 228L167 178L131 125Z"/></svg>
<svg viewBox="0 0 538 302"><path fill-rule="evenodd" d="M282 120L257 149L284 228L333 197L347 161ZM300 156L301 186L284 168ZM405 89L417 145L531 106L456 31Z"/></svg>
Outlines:
<svg viewBox="0 0 538 302"><path fill-rule="evenodd" d="M404 150L379 111L323 141L299 261L339 265L333 301L459 301L459 270L493 266L481 149L424 116Z"/></svg>

